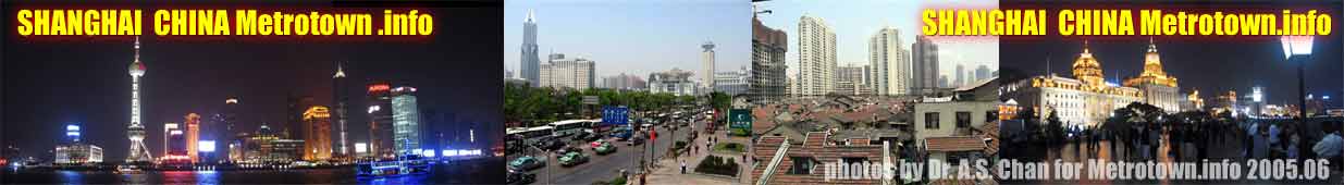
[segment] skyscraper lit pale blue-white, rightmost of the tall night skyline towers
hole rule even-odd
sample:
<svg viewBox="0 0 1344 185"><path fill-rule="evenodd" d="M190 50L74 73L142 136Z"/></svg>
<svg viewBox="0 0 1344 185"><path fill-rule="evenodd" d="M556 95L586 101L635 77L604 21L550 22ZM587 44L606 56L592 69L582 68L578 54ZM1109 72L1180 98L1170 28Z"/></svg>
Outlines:
<svg viewBox="0 0 1344 185"><path fill-rule="evenodd" d="M415 106L415 87L392 88L392 122L395 125L396 154L419 149L419 109Z"/></svg>

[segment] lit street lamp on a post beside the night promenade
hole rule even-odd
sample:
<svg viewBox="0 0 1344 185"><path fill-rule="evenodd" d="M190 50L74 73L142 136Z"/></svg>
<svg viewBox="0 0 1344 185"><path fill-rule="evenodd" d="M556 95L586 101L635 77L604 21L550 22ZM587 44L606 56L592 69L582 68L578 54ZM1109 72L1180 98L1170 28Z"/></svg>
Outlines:
<svg viewBox="0 0 1344 185"><path fill-rule="evenodd" d="M1279 43L1284 46L1284 58L1288 62L1297 60L1297 122L1301 123L1298 126L1306 126L1306 72L1304 68L1310 60L1312 39L1312 36L1305 35L1279 38ZM1305 129L1297 129L1297 134L1302 135L1302 130Z"/></svg>

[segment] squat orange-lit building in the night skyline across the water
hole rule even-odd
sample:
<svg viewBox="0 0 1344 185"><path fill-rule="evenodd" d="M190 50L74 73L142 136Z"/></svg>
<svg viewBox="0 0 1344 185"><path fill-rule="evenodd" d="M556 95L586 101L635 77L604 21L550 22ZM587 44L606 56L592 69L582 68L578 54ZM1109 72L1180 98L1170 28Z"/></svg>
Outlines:
<svg viewBox="0 0 1344 185"><path fill-rule="evenodd" d="M325 106L312 106L304 111L304 160L327 161L332 157L331 111Z"/></svg>

